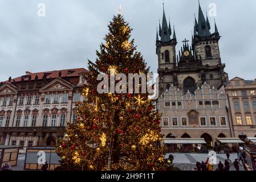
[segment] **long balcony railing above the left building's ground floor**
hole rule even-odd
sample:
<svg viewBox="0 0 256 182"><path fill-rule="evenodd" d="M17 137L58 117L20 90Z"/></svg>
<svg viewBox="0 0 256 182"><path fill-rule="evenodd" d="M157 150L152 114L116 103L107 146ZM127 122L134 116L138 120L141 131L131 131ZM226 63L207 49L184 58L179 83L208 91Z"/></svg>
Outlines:
<svg viewBox="0 0 256 182"><path fill-rule="evenodd" d="M0 127L0 132L56 132L56 131L65 131L66 127Z"/></svg>

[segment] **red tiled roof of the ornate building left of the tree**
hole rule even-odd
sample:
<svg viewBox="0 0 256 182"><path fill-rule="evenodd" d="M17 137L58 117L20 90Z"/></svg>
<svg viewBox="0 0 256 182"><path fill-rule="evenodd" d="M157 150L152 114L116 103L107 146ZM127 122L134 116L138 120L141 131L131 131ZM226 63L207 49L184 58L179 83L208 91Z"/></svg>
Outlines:
<svg viewBox="0 0 256 182"><path fill-rule="evenodd" d="M59 72L62 72L62 76L61 77L76 77L79 76L80 73L84 73L84 72L88 72L87 69L84 68L75 68L75 69L63 69L63 70L55 70L55 71L48 71L48 72L39 72L39 73L30 73L30 72L26 72L26 76L25 76L25 81L29 80L29 76L31 76L31 80L35 80L35 76L38 76L38 79L42 79L44 73L48 73L47 78L58 78L59 77ZM13 78L11 80L11 82L13 82L13 80L15 80L15 82L19 82L21 81L21 77L17 77L17 78ZM3 82L7 82L7 81L3 81Z"/></svg>

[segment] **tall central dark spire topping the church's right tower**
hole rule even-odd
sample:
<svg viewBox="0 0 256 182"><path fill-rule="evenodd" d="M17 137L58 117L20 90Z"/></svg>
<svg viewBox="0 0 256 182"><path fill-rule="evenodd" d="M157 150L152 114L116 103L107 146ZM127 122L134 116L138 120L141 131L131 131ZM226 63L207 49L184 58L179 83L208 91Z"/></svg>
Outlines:
<svg viewBox="0 0 256 182"><path fill-rule="evenodd" d="M210 36L210 31L209 31L209 27L207 26L206 20L205 20L205 16L202 13L202 9L200 6L200 2L198 0L199 3L199 10L198 10L198 36L200 37L204 37L204 36Z"/></svg>

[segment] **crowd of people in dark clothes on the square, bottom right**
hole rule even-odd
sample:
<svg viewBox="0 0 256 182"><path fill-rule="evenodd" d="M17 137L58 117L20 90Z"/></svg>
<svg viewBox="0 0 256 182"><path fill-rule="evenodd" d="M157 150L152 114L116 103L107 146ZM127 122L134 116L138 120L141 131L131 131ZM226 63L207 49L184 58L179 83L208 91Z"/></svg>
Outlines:
<svg viewBox="0 0 256 182"><path fill-rule="evenodd" d="M226 153L225 163L223 164L221 161L218 163L218 167L215 169L215 171L229 171L230 170L230 163L231 160L229 152ZM241 163L240 163L241 162ZM243 164L243 168L245 171L247 171L246 167L246 154L245 151L238 151L237 152L237 159L234 160L233 165L236 171L239 171L239 164ZM209 158L206 159L204 162L197 162L196 168L194 168L195 171L214 171L214 164L209 160Z"/></svg>

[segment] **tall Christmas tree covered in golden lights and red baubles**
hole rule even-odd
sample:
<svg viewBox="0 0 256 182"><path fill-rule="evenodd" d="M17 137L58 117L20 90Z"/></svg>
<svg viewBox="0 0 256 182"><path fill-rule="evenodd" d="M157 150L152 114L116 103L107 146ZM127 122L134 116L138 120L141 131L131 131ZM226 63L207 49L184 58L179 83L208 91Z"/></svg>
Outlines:
<svg viewBox="0 0 256 182"><path fill-rule="evenodd" d="M120 14L108 28L105 44L96 51L96 63L88 61L88 85L82 90L87 99L77 104L77 122L68 123L66 139L58 141L56 152L63 166L72 169L162 170L167 164L166 148L160 146L161 115L148 98L155 86L135 93L136 86L143 89L143 81L133 83L131 89L121 85L127 80L117 75L146 75L149 68L133 46L134 40L129 40L131 28ZM97 80L100 74L110 81L102 84ZM111 89L111 78L122 92Z"/></svg>

